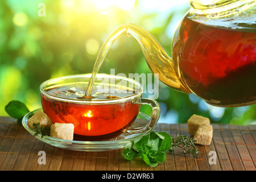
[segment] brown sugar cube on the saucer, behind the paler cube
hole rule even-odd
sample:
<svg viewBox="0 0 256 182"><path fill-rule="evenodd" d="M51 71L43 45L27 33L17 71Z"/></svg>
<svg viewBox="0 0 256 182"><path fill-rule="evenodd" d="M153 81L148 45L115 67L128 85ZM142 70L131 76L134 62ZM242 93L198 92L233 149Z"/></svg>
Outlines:
<svg viewBox="0 0 256 182"><path fill-rule="evenodd" d="M42 110L37 111L31 118L27 121L27 126L32 129L33 123L40 123L39 127L51 127L52 121Z"/></svg>

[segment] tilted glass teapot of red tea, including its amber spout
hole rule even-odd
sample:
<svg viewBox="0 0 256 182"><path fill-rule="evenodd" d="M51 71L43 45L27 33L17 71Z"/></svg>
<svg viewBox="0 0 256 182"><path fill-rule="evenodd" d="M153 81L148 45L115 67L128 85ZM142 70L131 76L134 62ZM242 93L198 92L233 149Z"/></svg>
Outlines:
<svg viewBox="0 0 256 182"><path fill-rule="evenodd" d="M106 40L103 60L121 35L138 40L148 67L175 90L220 107L256 103L256 1L191 0L172 40L172 57L143 28L125 24ZM96 61L94 68L100 68Z"/></svg>

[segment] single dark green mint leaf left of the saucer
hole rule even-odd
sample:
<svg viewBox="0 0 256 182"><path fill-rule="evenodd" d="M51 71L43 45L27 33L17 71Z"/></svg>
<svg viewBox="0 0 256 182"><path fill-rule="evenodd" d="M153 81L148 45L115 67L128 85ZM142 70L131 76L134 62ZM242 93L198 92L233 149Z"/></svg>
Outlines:
<svg viewBox="0 0 256 182"><path fill-rule="evenodd" d="M20 101L10 101L9 104L5 106L5 111L10 117L18 119L18 124L21 124L22 118L29 112L27 106Z"/></svg>

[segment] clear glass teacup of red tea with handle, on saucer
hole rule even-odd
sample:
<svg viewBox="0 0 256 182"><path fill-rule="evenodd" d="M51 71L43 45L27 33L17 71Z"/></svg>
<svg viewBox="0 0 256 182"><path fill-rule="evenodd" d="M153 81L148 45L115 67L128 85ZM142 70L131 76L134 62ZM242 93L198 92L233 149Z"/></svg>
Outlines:
<svg viewBox="0 0 256 182"><path fill-rule="evenodd" d="M108 140L122 133L143 133L159 119L158 102L142 98L143 86L126 77L97 74L92 98L85 98L91 75L53 78L40 86L44 113L53 123L73 123L74 140ZM130 129L141 104L152 107L146 126Z"/></svg>

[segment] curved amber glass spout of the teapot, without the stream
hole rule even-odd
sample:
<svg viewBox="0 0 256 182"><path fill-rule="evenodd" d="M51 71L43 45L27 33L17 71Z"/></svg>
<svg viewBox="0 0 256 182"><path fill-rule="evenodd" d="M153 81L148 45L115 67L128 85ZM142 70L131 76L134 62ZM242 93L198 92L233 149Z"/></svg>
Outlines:
<svg viewBox="0 0 256 182"><path fill-rule="evenodd" d="M131 23L123 25L123 27L126 30L126 36L133 36L138 41L148 67L154 74L158 74L160 81L172 89L191 93L180 77L179 65L174 63L150 33Z"/></svg>

